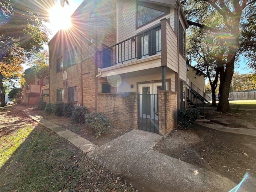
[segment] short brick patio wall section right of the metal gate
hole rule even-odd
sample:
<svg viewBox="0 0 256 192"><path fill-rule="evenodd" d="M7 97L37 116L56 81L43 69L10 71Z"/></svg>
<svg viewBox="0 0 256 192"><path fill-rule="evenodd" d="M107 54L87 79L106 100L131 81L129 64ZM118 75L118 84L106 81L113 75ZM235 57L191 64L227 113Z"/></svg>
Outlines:
<svg viewBox="0 0 256 192"><path fill-rule="evenodd" d="M158 91L159 134L167 135L177 125L177 92Z"/></svg>

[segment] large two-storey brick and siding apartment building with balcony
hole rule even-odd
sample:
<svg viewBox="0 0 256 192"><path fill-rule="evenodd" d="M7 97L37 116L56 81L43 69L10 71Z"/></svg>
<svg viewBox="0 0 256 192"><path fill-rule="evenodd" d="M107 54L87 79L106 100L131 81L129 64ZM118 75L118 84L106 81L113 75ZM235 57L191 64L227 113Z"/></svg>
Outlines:
<svg viewBox="0 0 256 192"><path fill-rule="evenodd" d="M48 43L50 103L165 135L185 107L188 23L176 0L86 1Z"/></svg>

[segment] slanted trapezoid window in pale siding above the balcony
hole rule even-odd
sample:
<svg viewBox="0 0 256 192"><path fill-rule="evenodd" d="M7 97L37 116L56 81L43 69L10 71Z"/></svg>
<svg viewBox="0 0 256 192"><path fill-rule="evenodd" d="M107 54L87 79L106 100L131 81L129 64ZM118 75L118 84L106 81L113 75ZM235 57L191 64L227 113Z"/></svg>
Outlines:
<svg viewBox="0 0 256 192"><path fill-rule="evenodd" d="M170 8L168 7L138 1L136 6L136 27L143 26L169 13Z"/></svg>

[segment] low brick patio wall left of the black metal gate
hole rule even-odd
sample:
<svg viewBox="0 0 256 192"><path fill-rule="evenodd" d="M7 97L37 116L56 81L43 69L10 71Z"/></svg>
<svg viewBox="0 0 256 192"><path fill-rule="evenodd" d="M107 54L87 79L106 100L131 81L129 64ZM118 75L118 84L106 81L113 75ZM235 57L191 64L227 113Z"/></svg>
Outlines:
<svg viewBox="0 0 256 192"><path fill-rule="evenodd" d="M138 129L138 93L98 94L98 111L114 126Z"/></svg>

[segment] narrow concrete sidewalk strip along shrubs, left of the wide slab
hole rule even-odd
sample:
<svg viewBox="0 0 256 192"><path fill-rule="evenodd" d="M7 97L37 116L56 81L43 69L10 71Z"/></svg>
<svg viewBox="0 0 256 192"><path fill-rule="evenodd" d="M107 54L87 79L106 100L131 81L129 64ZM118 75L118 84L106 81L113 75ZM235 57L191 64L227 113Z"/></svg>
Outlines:
<svg viewBox="0 0 256 192"><path fill-rule="evenodd" d="M52 123L48 120L45 120L41 116L38 116L38 115L34 114L33 112L31 112L29 110L23 110L23 112L27 116L29 116L30 118L32 118L33 120L35 120L36 122L41 124L42 126L52 130L53 132L55 132L59 136L65 138L70 143L74 144L74 146L78 147L84 153L88 153L91 150L94 150L95 148L97 148L97 146L95 144L93 144L92 142L82 138L80 135L75 134L75 133L73 133L69 130L66 130L65 128L63 128L61 126L58 126L58 125L56 125L56 124L54 124L54 123Z"/></svg>

